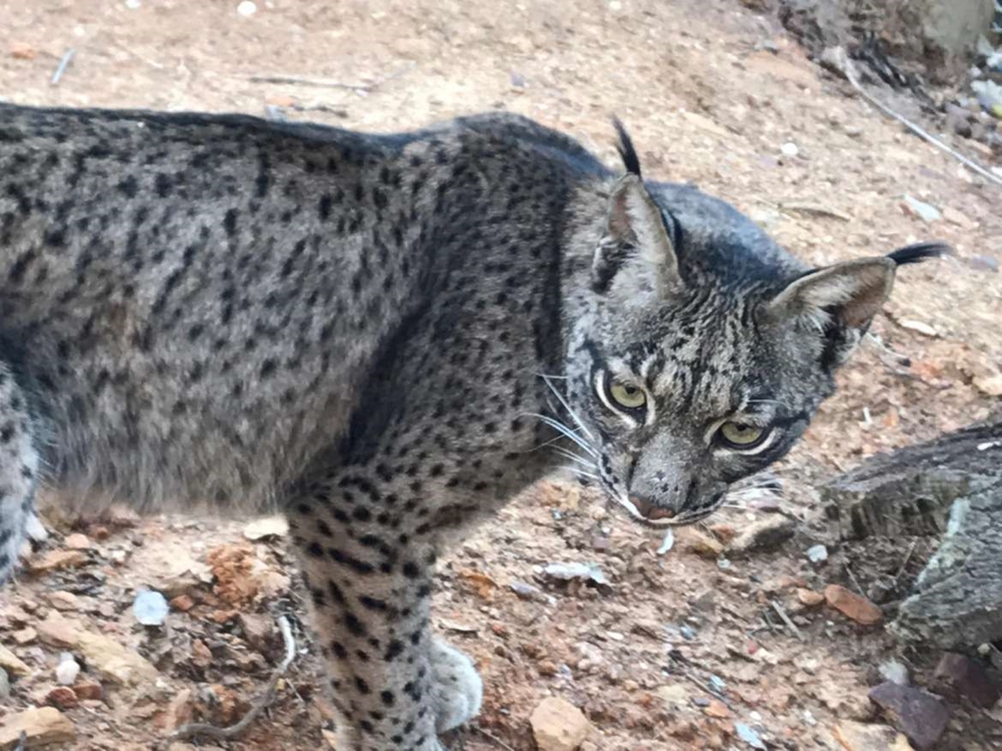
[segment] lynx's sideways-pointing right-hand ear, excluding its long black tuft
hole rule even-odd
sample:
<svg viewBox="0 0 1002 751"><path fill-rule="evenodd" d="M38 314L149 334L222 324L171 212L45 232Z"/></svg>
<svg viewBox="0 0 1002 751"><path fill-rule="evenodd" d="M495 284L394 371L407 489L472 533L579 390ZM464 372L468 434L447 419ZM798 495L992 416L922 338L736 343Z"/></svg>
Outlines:
<svg viewBox="0 0 1002 751"><path fill-rule="evenodd" d="M823 364L849 359L891 293L896 263L864 258L822 268L791 282L767 306L774 321L796 320L825 337Z"/></svg>

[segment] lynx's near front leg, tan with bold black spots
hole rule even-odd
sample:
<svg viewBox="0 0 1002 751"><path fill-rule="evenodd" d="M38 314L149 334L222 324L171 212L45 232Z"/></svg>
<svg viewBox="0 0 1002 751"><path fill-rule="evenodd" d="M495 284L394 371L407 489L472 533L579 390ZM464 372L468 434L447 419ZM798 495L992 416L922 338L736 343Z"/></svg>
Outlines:
<svg viewBox="0 0 1002 751"><path fill-rule="evenodd" d="M428 630L434 548L373 508L368 496L379 493L363 484L325 484L289 512L342 716L338 748L441 751Z"/></svg>

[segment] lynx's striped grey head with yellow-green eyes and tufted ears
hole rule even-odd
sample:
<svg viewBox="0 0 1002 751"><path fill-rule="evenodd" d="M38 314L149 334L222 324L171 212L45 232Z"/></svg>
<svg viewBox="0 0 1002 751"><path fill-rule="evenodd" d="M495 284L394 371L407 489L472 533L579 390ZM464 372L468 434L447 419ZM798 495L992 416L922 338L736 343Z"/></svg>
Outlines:
<svg viewBox="0 0 1002 751"><path fill-rule="evenodd" d="M690 524L801 437L897 266L947 248L811 268L728 204L642 181L619 133L627 173L587 251L564 408L587 472L632 517Z"/></svg>

